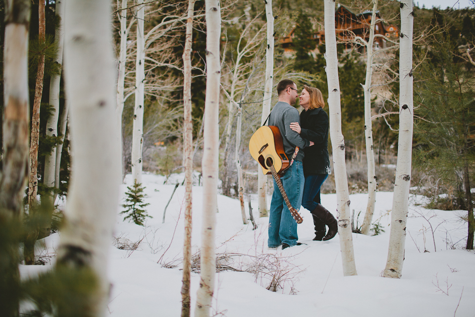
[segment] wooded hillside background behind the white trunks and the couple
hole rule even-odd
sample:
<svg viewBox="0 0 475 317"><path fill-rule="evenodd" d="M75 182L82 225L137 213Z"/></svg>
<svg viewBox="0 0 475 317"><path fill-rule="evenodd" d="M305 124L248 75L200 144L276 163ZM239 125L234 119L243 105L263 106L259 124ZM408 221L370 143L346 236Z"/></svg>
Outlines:
<svg viewBox="0 0 475 317"><path fill-rule="evenodd" d="M368 1L366 1L368 2ZM370 3L365 1L339 1L349 10L362 13L369 9ZM143 118L143 170L163 175L180 172L183 169L183 89L181 55L185 36L185 23L178 21L172 27L161 27L156 30L160 21L167 16L183 16L186 11L185 1L161 1L158 4L148 3L144 20L145 34L150 30L156 36L153 44L146 48L145 84L144 84L144 118ZM117 56L119 55L120 25L118 18L121 10L118 3L113 2L116 10L113 12ZM205 93L205 39L206 30L204 17L200 16L204 2L195 4L197 21L193 30L192 44L192 118L194 142L194 169L201 169L202 147L202 118ZM1 4L3 6L3 4ZM136 7L129 4L127 65L125 76L125 102L122 115L123 143L123 173L131 170L132 122L134 116L135 91L135 60L136 34L133 26L136 19ZM290 78L301 87L306 83L322 90L325 99L328 88L325 72L325 47L318 46L313 38L317 31L323 29L323 2L308 3L304 0L274 1L275 21L275 74L274 87L280 79ZM31 8L30 23L30 102L33 110L35 95L35 79L39 56L45 55L45 76L43 79L43 95L40 111L40 138L38 152L38 192L43 195L51 190L44 185L45 157L61 143L61 138L47 135L47 119L52 114L49 105L50 77L58 72L54 62L57 50L54 49L54 33L58 27L58 17L55 15L55 2L46 2L46 42L38 39L38 1ZM202 13L202 12L201 12ZM380 17L385 25L399 25L399 4L395 1L380 1ZM4 9L0 7L0 19L3 21ZM415 134L413 151L414 170L411 184L420 194L433 198L439 208L466 209L464 203L464 180L460 172L455 171L453 159L463 150L461 138L463 133L449 132L445 137L451 140L441 140L440 134L434 138L434 133L427 133L430 122L441 122L446 117L440 100L430 99L434 92L451 89L445 87L443 76L447 72L461 74L467 80L473 79L474 62L470 54L474 47L475 10L438 9L414 7L414 76L415 76ZM223 22L221 37L222 77L220 93L220 190L223 194L236 197L238 193L238 173L235 157L236 141L236 109L230 106L229 98L242 105L242 136L239 147L239 157L244 171L246 187L249 192L255 192L257 186L257 165L247 151L250 135L260 124L261 103L263 98L265 74L265 12L262 1L239 1L223 3ZM4 24L0 25L3 34ZM283 39L294 30L292 47L283 48ZM0 38L3 41L3 37ZM0 42L0 45L3 43ZM387 42L387 46L392 44ZM3 48L3 46L1 46ZM443 49L441 49L443 48ZM398 49L383 50L375 55L374 91L372 95L374 147L376 155L376 173L378 190L392 191L394 183L394 164L397 158L398 115L389 114L397 111L398 89L397 78L394 74L398 67ZM467 53L469 51L469 53ZM345 137L348 185L350 193L367 191L366 155L364 140L364 83L366 60L362 46L354 43L340 43L339 78L341 87L342 128ZM1 70L1 69L0 69ZM458 73L457 73L458 72ZM438 80L439 79L439 80ZM3 83L1 82L0 85ZM452 89L455 89L452 87ZM275 88L273 89L273 91ZM3 93L3 89L0 89ZM231 95L231 96L230 96ZM1 109L3 99L1 98ZM271 105L277 101L276 93L272 96ZM61 80L59 115L64 111L65 96ZM298 102L295 105L299 110ZM328 110L328 109L327 109ZM457 110L455 110L457 111ZM31 111L32 113L33 111ZM378 116L379 115L379 116ZM428 119L428 116L430 118ZM463 113L454 115L455 121L461 119ZM428 119L428 120L427 120ZM469 126L473 138L473 121L459 122L463 129ZM465 124L465 125L464 125ZM457 129L457 127L454 127ZM1 131L1 129L0 129ZM60 131L60 130L58 130ZM0 132L1 133L1 132ZM69 182L70 148L68 146L68 129L62 146L61 168L59 173L59 195L67 194ZM438 138L438 140L436 140ZM457 138L459 139L457 141ZM1 140L1 138L0 138ZM472 139L473 140L473 139ZM58 142L59 141L59 142ZM470 140L469 140L470 141ZM1 142L1 141L0 141ZM457 143L458 142L458 143ZM462 142L462 143L461 143ZM437 155L437 162L430 163L427 155L434 157L434 151L447 149L447 144L454 149L454 155L442 159ZM473 153L473 142L469 145ZM331 153L331 144L329 144ZM440 161L442 159L442 161ZM444 167L445 166L445 167ZM448 170L452 170L449 172ZM444 173L441 173L445 170ZM470 177L473 183L473 161L470 166ZM334 193L332 176L324 183L322 193ZM447 194L440 198L440 194ZM443 205L441 207L441 205Z"/></svg>

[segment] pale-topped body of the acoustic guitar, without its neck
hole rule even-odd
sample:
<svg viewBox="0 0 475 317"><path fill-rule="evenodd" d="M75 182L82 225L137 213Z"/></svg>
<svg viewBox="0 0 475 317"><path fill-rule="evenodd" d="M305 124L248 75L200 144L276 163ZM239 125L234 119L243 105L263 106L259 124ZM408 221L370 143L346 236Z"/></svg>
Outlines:
<svg viewBox="0 0 475 317"><path fill-rule="evenodd" d="M264 125L257 129L249 140L249 153L265 175L272 174L271 166L274 166L279 176L288 168L289 161L277 126Z"/></svg>

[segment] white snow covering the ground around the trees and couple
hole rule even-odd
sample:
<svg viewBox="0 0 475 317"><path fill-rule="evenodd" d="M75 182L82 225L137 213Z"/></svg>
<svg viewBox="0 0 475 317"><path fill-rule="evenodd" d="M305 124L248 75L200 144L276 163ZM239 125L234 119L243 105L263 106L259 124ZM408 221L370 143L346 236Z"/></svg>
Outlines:
<svg viewBox="0 0 475 317"><path fill-rule="evenodd" d="M142 242L135 251L110 248L109 278L112 289L107 316L180 316L184 186L179 186L175 192L163 224L162 217L174 184L181 184L183 177L183 174L172 175L168 184L164 185L163 176L143 175L143 186L148 195L146 202L150 203L146 208L148 214L153 216L147 219L145 227L124 222L123 216L117 216L114 236L122 241ZM197 252L200 245L203 188L197 186L197 181L196 177L193 187L192 253ZM131 185L130 175L126 177L126 183L122 185L121 204L127 186ZM380 221L385 232L377 236L353 234L358 276L350 277L343 277L338 235L326 242L312 241L313 223L309 211L301 209L304 222L298 225L299 242L306 245L269 250L268 218L258 218L257 196L251 195L258 223L254 231L250 223L242 224L238 200L220 195L217 253L231 256L227 264L241 270L256 264L256 259L261 263L266 259L274 267L280 265L289 272L285 275L288 280L277 292L266 289L269 278L261 273L257 278L250 272L217 273L213 314L227 317L445 317L454 316L456 312L455 316L473 316L475 254L463 250L467 224L460 219L466 211L426 210L422 207L424 199L423 196L410 197L402 278L390 279L380 277L380 273L387 257L392 193L377 193L374 221ZM358 220L361 224L367 194L350 195L350 200L355 217L362 211ZM322 195L322 204L336 215L335 194ZM245 206L247 212L247 201ZM47 247L43 254L53 254L59 243L59 234L40 241L37 245L39 249L41 243ZM452 249L453 246L455 249ZM34 276L49 269L52 264L54 260L45 266L20 265L20 272L22 277ZM178 266L166 268L163 264ZM264 271L271 272L269 269ZM198 282L199 274L191 273L192 311Z"/></svg>

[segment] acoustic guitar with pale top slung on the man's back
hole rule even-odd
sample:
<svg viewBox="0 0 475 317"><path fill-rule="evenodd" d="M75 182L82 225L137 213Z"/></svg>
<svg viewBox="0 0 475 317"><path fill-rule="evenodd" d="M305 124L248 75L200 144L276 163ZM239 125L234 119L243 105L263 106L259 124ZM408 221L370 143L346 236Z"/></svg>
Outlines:
<svg viewBox="0 0 475 317"><path fill-rule="evenodd" d="M280 178L289 167L289 160L284 152L279 128L274 125L264 125L257 129L249 140L249 152L261 166L264 175L272 174L290 214L297 223L302 223L303 218L298 213L298 209L294 209L288 201Z"/></svg>

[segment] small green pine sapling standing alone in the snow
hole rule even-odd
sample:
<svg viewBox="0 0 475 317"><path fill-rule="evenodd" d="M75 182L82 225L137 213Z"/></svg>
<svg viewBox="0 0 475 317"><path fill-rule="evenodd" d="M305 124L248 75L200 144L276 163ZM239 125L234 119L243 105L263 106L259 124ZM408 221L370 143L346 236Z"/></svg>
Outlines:
<svg viewBox="0 0 475 317"><path fill-rule="evenodd" d="M127 198L125 199L126 204L122 205L126 210L122 211L120 214L127 214L124 217L124 220L132 219L136 224L143 226L143 220L145 220L145 217L152 218L152 216L148 215L147 212L143 210L145 206L150 205L143 202L143 199L146 197L143 193L144 187L142 187L142 184L138 183L136 179L134 185L127 187L127 189L129 191L125 193L127 195Z"/></svg>

